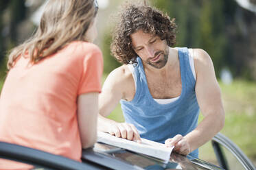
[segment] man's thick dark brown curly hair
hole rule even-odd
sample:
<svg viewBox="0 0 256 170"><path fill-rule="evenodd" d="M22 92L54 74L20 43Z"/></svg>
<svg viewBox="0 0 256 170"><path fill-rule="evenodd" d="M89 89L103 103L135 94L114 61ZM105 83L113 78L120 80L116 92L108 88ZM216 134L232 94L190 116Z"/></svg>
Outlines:
<svg viewBox="0 0 256 170"><path fill-rule="evenodd" d="M174 19L148 5L126 5L119 13L119 23L113 32L110 49L115 58L123 64L137 63L137 53L132 49L130 35L142 30L159 36L172 47L176 42L176 23Z"/></svg>

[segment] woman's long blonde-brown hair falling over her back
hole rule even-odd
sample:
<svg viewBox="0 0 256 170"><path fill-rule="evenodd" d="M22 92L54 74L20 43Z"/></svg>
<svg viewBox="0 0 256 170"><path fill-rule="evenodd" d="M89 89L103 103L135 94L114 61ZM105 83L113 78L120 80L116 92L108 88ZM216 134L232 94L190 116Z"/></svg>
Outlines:
<svg viewBox="0 0 256 170"><path fill-rule="evenodd" d="M94 0L49 0L36 33L12 49L8 69L25 53L34 64L73 40L86 40L86 31L97 12L94 6Z"/></svg>

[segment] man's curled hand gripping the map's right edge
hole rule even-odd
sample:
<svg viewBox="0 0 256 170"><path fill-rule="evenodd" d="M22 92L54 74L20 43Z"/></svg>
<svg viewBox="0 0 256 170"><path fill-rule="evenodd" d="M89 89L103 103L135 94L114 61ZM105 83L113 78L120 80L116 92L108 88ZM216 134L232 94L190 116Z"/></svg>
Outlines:
<svg viewBox="0 0 256 170"><path fill-rule="evenodd" d="M174 151L178 154L187 155L190 153L190 146L187 142L187 138L185 138L181 134L177 134L176 136L174 136L174 138L168 138L165 141L165 146L174 146Z"/></svg>

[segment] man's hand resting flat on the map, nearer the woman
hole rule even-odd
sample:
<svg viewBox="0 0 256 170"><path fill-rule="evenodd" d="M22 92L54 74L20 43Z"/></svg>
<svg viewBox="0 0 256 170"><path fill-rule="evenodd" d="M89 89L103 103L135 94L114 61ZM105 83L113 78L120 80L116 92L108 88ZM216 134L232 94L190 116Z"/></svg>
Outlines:
<svg viewBox="0 0 256 170"><path fill-rule="evenodd" d="M130 141L141 142L141 137L135 125L129 123L112 123L108 133L115 135L117 138L126 138Z"/></svg>

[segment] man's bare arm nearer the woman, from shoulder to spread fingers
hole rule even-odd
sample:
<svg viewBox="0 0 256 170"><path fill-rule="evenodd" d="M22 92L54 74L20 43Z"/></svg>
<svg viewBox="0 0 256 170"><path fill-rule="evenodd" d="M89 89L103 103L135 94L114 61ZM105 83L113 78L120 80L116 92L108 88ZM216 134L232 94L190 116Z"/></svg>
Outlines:
<svg viewBox="0 0 256 170"><path fill-rule="evenodd" d="M106 78L102 93L100 94L98 130L108 132L120 138L140 141L139 132L134 125L117 123L106 118L115 109L120 99L130 101L134 94L135 84L128 66L120 66L112 71Z"/></svg>

